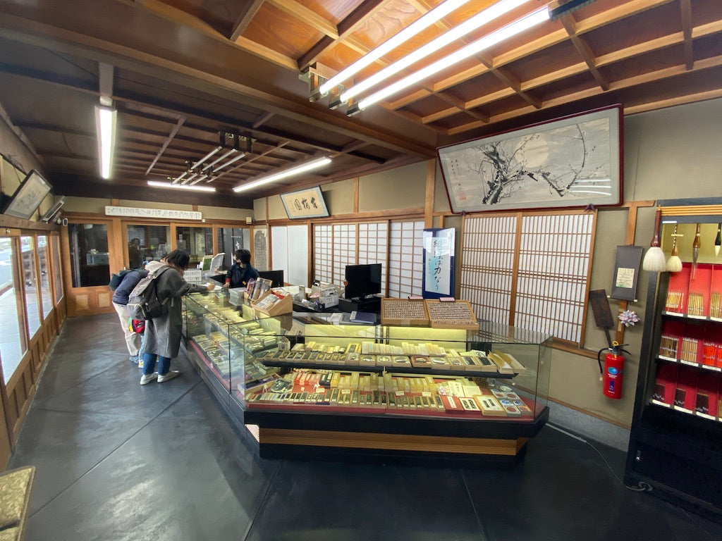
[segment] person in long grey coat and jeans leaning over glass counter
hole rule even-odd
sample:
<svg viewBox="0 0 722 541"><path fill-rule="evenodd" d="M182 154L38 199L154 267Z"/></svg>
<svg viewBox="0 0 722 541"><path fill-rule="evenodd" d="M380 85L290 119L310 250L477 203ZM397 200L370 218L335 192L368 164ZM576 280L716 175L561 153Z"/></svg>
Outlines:
<svg viewBox="0 0 722 541"><path fill-rule="evenodd" d="M178 356L181 348L183 315L181 298L188 293L212 291L212 283L196 286L183 280L190 256L183 250L168 252L160 261L147 265L149 274L156 276L156 296L165 307L163 313L145 322L145 353L143 354L143 375L140 384L146 385L155 379L167 382L178 376L177 370L170 370L170 359ZM158 372L155 374L155 363Z"/></svg>

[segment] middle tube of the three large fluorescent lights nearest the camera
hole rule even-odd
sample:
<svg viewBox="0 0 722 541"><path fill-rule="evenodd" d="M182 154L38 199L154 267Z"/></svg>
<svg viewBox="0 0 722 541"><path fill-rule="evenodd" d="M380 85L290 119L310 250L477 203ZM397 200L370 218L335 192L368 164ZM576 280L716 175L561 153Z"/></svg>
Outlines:
<svg viewBox="0 0 722 541"><path fill-rule="evenodd" d="M406 69L407 67L418 62L419 60L422 60L422 58L426 58L431 53L435 53L440 48L445 47L449 43L453 43L459 38L464 37L469 32L477 30L477 28L482 27L489 22L492 22L494 19L497 19L504 14L507 14L512 9L516 9L518 8L518 6L521 6L521 4L526 4L527 1L528 0L502 0L497 4L494 4L487 9L484 9L483 12L474 15L474 17L471 17L471 19L464 21L463 23L461 23L461 25L453 27L451 30L443 33L435 40L432 40L426 45L419 47L417 50L414 50L413 53L409 53L408 55L404 56L404 58L401 58L400 60L392 63L391 66L387 66L381 71L378 71L377 73L368 77L368 79L364 79L359 84L356 84L355 86L347 89L346 92L341 94L340 100L342 102L348 101L352 97L355 97L361 92L364 92L366 89L373 87L375 84L385 81L393 74L399 73L399 71L401 71L402 69Z"/></svg>

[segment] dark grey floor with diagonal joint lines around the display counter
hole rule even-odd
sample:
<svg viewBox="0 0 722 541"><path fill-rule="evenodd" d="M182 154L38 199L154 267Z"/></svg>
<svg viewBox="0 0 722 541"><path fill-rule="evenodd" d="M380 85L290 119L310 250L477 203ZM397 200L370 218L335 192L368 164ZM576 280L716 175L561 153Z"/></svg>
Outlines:
<svg viewBox="0 0 722 541"><path fill-rule="evenodd" d="M173 364L141 387L115 314L67 320L9 464L38 468L28 541L722 540L549 427L512 471L260 459Z"/></svg>

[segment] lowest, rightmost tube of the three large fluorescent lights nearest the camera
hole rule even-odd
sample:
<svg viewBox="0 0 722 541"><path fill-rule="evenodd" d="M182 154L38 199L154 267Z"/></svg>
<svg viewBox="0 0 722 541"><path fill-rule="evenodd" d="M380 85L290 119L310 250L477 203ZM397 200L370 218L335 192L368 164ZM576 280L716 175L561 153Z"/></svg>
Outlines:
<svg viewBox="0 0 722 541"><path fill-rule="evenodd" d="M419 81L426 79L427 77L432 76L438 71L446 69L449 66L453 66L453 64L457 62L461 62L465 58L469 58L469 56L473 56L479 53L479 51L490 48L492 45L496 45L503 40L511 38L514 35L520 34L521 32L529 30L529 28L539 25L540 23L548 20L549 10L547 8L539 9L539 11L533 12L526 17L522 17L521 19L518 19L518 21L513 22L510 25L500 28L496 32L485 35L484 38L476 40L473 43L469 43L469 45L466 45L466 47L461 48L448 56L445 56L439 61L430 63L424 69L419 69L419 71L415 71L411 75L406 76L404 77L404 79L401 79L393 84L390 84L388 87L379 90L375 94L363 98L358 102L357 107L360 110L365 109L369 105L373 105L375 102L391 96L391 94L396 94L396 92L400 92L406 87L410 87L412 84L415 84ZM351 113L351 110L349 110L349 113Z"/></svg>

